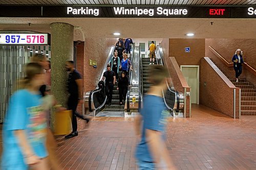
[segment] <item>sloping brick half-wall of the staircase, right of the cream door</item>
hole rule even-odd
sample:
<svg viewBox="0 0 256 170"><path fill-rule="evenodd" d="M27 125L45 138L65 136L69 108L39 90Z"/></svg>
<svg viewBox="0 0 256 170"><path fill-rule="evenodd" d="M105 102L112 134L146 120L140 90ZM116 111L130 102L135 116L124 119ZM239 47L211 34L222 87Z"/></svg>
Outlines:
<svg viewBox="0 0 256 170"><path fill-rule="evenodd" d="M238 92L239 88L236 90L236 116L239 115ZM233 117L233 88L224 82L204 58L200 66L200 104Z"/></svg>

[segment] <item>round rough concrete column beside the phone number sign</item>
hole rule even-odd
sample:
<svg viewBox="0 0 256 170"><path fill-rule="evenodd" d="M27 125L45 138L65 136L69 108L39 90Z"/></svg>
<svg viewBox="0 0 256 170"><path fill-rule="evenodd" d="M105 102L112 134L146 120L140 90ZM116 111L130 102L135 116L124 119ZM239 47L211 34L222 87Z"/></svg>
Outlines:
<svg viewBox="0 0 256 170"><path fill-rule="evenodd" d="M67 78L65 62L73 60L74 26L51 23L51 91L58 104L67 107Z"/></svg>

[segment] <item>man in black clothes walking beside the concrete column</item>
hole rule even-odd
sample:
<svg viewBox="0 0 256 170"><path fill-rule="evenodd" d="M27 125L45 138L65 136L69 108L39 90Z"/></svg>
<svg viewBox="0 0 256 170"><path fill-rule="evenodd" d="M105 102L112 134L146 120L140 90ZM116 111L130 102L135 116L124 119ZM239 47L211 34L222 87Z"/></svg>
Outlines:
<svg viewBox="0 0 256 170"><path fill-rule="evenodd" d="M65 136L65 138L71 138L74 136L78 136L77 132L77 119L76 117L82 118L89 122L89 118L84 118L82 115L76 112L76 108L78 105L78 101L83 99L82 96L82 78L79 72L74 68L73 61L66 62L66 70L70 71L69 78L67 81L69 99L68 99L68 109L72 110L72 132Z"/></svg>

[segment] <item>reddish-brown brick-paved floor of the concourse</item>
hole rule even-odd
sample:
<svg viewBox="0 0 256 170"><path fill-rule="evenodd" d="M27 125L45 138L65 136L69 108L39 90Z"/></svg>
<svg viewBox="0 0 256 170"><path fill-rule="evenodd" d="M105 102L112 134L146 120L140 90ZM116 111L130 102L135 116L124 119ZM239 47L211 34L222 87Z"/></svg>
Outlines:
<svg viewBox="0 0 256 170"><path fill-rule="evenodd" d="M177 169L256 169L256 116L234 120L201 105L170 118L166 144ZM57 136L65 169L136 169L133 118L79 121L79 136Z"/></svg>

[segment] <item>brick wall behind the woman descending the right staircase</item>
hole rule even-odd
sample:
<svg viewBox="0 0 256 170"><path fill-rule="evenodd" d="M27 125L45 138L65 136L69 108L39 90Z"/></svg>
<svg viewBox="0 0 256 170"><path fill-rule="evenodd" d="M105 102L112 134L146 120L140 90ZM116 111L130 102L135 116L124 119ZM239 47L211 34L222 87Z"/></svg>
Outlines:
<svg viewBox="0 0 256 170"><path fill-rule="evenodd" d="M243 51L244 61L256 69L256 39L205 39L205 56L211 58L218 67L223 69L228 78L235 78L233 67L224 65L220 59L209 50L208 46L214 48L214 50L228 62L232 62L231 59L234 53L240 48ZM246 78L248 82L256 87L256 76L252 75L251 72L244 67L241 78Z"/></svg>

